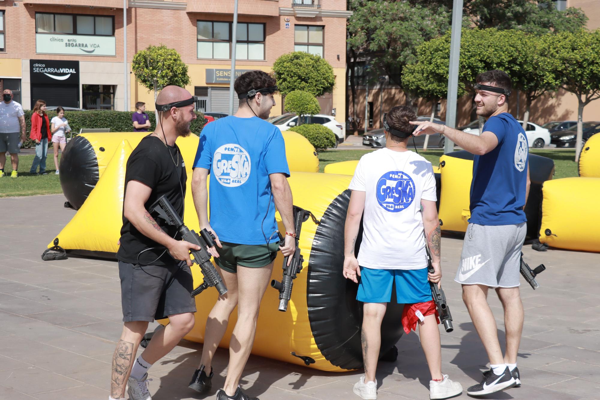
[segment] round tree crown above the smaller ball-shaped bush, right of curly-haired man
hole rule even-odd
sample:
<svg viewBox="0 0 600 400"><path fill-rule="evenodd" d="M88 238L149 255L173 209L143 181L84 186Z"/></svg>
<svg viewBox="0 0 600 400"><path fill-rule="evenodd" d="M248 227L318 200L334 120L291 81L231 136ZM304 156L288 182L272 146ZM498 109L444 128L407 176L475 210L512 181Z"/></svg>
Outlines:
<svg viewBox="0 0 600 400"><path fill-rule="evenodd" d="M273 64L273 71L283 96L302 90L319 97L331 93L335 86L334 68L318 55L305 52L281 55Z"/></svg>

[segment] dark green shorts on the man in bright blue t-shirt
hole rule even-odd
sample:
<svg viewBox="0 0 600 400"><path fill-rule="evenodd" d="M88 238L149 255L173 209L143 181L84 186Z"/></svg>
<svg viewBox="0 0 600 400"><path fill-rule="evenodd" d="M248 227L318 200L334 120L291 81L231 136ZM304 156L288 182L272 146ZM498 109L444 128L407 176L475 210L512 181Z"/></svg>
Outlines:
<svg viewBox="0 0 600 400"><path fill-rule="evenodd" d="M238 271L238 265L248 268L266 267L271 264L277 256L279 242L265 244L237 244L221 242L221 249L217 246L218 258L215 258L217 265L227 272L235 274Z"/></svg>

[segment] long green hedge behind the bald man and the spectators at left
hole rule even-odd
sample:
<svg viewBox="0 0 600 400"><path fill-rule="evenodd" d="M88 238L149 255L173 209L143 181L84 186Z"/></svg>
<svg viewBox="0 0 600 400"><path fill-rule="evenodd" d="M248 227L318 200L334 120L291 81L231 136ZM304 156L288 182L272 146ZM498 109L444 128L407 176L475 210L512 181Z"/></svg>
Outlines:
<svg viewBox="0 0 600 400"><path fill-rule="evenodd" d="M25 124L27 141L23 147L35 147L35 142L29 139L31 132L31 115L33 111L25 110ZM48 111L48 119L51 121L56 117L56 111ZM133 132L133 122L131 121L131 111L67 111L65 118L69 121L69 126L73 130L73 135L79 133L81 128L110 128L110 132ZM156 118L154 112L148 112L151 126L149 131L152 132L155 128ZM198 118L191 123L191 132L200 135L204 126L204 114L196 112Z"/></svg>

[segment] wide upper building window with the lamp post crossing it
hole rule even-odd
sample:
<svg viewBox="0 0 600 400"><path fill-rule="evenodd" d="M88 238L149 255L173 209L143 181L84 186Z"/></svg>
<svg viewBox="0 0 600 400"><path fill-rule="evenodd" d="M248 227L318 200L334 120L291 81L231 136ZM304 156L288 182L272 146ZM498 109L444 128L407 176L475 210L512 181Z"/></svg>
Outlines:
<svg viewBox="0 0 600 400"><path fill-rule="evenodd" d="M232 23L197 21L198 58L230 59ZM265 59L265 24L238 23L236 59Z"/></svg>

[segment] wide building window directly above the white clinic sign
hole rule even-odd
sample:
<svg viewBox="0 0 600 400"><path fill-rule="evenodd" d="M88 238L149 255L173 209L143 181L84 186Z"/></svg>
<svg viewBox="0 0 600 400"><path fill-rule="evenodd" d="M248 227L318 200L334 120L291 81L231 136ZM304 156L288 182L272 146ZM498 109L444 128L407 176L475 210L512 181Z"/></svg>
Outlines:
<svg viewBox="0 0 600 400"><path fill-rule="evenodd" d="M114 22L112 16L35 13L35 32L113 36Z"/></svg>

